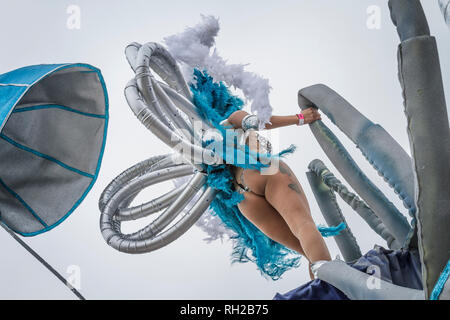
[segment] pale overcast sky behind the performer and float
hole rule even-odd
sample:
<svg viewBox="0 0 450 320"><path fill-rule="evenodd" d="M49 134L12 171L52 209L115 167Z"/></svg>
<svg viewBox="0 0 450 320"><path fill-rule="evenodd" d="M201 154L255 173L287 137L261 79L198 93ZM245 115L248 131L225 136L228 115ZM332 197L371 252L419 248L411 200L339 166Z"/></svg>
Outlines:
<svg viewBox="0 0 450 320"><path fill-rule="evenodd" d="M450 30L437 0L422 3L437 38L448 98L450 61L445 57L450 56ZM25 239L65 276L70 275L70 266L79 267L80 291L88 299L271 299L276 292L309 280L306 260L278 281L263 278L252 263L230 265L231 243L207 244L202 240L206 235L197 227L169 246L144 255L119 253L104 242L97 206L104 187L131 165L170 151L140 125L123 96L125 84L133 77L124 56L131 42L162 42L165 36L196 24L200 14L215 15L221 25L217 49L230 63L249 63L248 70L269 79L274 114L298 112L298 90L324 83L381 124L409 153L397 80L399 40L384 0L0 0L0 4L0 73L33 64L84 62L100 68L106 80L111 120L96 185L62 225ZM70 5L80 9L80 29L67 27ZM379 29L367 25L367 9L372 5L380 9ZM406 214L360 152L330 127L366 174ZM286 162L303 185L315 221L324 223L306 179L307 166L321 159L345 183L344 179L307 126L282 128L276 134L280 147L298 146ZM158 185L139 200L148 201L171 188L170 183ZM340 204L363 252L375 243L385 245L348 206ZM334 240L326 241L336 256ZM73 298L1 230L0 243L0 298Z"/></svg>

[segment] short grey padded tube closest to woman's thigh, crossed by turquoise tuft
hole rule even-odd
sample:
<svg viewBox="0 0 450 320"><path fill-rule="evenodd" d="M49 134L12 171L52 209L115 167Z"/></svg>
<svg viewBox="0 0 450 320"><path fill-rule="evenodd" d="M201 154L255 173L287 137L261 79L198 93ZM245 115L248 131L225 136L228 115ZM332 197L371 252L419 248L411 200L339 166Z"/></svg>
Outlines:
<svg viewBox="0 0 450 320"><path fill-rule="evenodd" d="M336 202L336 195L333 190L326 186L320 176L315 172L309 171L306 173L309 184L314 193L314 197L319 205L320 211L325 218L325 221L329 226L339 225L341 222L345 222L345 218L342 215L341 210ZM344 257L345 261L353 262L361 257L361 249L358 246L356 238L347 225L345 230L337 236L334 236L334 240L339 247L339 251Z"/></svg>

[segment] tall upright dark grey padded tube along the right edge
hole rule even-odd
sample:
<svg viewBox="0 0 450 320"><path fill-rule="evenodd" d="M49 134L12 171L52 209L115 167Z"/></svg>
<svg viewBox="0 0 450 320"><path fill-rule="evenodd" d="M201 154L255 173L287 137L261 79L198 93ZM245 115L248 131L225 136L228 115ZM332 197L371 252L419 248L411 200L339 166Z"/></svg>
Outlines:
<svg viewBox="0 0 450 320"><path fill-rule="evenodd" d="M426 298L450 255L450 131L436 40L425 28L422 6L389 1L402 42L398 47L417 204L419 252ZM417 28L410 28L414 14ZM411 21L414 21L411 19ZM439 116L436 116L439 115Z"/></svg>

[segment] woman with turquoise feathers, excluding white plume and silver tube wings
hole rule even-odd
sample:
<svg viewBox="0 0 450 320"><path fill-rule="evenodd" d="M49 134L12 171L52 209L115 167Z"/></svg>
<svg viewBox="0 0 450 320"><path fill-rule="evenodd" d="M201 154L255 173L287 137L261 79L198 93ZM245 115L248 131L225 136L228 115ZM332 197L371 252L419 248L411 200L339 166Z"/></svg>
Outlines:
<svg viewBox="0 0 450 320"><path fill-rule="evenodd" d="M237 234L235 261L254 261L263 274L277 279L298 265L295 253L305 256L310 264L330 260L302 186L280 159L295 147L272 155L270 141L258 134L261 129L309 124L321 119L320 114L308 108L299 114L274 115L261 128L260 119L242 110L242 100L231 95L222 82L214 82L207 71L196 69L194 75L194 104L224 138L225 164L205 166L205 170L208 184L219 190L211 204L213 214ZM311 272L310 276L313 278Z"/></svg>

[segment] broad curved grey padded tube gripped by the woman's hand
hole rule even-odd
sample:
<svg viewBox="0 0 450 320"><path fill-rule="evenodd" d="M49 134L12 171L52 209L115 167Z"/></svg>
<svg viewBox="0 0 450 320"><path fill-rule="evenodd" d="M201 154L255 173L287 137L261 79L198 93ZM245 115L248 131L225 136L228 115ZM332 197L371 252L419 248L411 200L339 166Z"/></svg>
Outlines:
<svg viewBox="0 0 450 320"><path fill-rule="evenodd" d="M412 162L384 128L373 123L331 88L317 84L300 90L299 103L313 103L361 150L414 215Z"/></svg>

